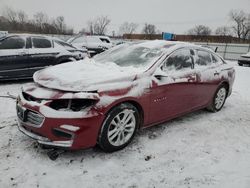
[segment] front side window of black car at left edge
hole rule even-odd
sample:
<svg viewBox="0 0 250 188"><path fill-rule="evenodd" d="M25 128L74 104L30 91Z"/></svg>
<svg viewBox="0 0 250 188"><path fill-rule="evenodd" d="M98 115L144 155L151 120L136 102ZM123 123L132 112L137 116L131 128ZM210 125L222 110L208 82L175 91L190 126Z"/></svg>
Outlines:
<svg viewBox="0 0 250 188"><path fill-rule="evenodd" d="M25 48L25 40L21 37L9 37L0 41L0 49L22 49Z"/></svg>

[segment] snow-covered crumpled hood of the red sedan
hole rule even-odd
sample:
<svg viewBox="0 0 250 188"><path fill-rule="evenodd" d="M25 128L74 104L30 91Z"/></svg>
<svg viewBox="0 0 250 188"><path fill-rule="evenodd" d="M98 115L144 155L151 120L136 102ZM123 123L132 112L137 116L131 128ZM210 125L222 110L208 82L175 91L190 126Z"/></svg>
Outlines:
<svg viewBox="0 0 250 188"><path fill-rule="evenodd" d="M37 71L33 79L43 87L62 91L100 91L129 87L139 72L142 71L85 58Z"/></svg>

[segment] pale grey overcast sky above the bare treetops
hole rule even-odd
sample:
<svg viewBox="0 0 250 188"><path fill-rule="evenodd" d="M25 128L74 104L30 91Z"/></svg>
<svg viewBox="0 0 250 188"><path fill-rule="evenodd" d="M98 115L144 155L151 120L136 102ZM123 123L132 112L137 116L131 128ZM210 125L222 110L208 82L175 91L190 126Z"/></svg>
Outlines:
<svg viewBox="0 0 250 188"><path fill-rule="evenodd" d="M140 24L138 32L146 22L177 34L198 24L214 30L230 24L231 9L250 13L250 0L0 0L0 15L6 6L24 10L30 18L38 11L50 17L62 15L75 31L88 20L107 15L111 19L109 33L117 32L125 21Z"/></svg>

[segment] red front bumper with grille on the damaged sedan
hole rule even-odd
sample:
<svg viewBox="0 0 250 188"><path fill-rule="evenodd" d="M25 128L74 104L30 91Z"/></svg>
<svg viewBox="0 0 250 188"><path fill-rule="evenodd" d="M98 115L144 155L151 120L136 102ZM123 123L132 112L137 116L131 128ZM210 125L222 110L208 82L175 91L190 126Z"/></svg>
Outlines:
<svg viewBox="0 0 250 188"><path fill-rule="evenodd" d="M76 150L96 145L103 113L91 108L82 112L58 111L48 105L51 100L28 100L23 92L16 103L18 128L22 133L41 145L55 148Z"/></svg>

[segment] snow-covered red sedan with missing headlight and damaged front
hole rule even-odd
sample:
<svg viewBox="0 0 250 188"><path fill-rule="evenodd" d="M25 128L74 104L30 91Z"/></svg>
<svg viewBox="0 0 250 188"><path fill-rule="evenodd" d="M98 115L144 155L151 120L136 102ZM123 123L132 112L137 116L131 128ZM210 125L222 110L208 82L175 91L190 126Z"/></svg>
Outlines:
<svg viewBox="0 0 250 188"><path fill-rule="evenodd" d="M209 49L156 40L119 45L33 78L17 99L20 131L45 146L98 144L112 152L139 128L198 109L221 110L235 70Z"/></svg>

